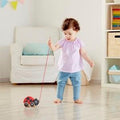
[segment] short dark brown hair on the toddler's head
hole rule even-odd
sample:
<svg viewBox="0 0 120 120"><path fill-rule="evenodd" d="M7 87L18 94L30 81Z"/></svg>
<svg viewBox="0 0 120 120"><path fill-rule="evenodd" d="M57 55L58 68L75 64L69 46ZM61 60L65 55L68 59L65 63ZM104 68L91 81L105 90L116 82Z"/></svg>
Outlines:
<svg viewBox="0 0 120 120"><path fill-rule="evenodd" d="M69 28L73 28L75 31L80 30L80 26L77 20L74 18L66 18L62 24L62 30L65 31Z"/></svg>

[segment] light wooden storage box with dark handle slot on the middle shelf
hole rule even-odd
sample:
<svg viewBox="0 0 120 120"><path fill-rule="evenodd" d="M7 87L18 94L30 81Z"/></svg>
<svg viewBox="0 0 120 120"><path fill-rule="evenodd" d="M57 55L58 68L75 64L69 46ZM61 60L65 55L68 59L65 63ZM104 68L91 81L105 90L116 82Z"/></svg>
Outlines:
<svg viewBox="0 0 120 120"><path fill-rule="evenodd" d="M120 57L120 32L108 33L108 57Z"/></svg>

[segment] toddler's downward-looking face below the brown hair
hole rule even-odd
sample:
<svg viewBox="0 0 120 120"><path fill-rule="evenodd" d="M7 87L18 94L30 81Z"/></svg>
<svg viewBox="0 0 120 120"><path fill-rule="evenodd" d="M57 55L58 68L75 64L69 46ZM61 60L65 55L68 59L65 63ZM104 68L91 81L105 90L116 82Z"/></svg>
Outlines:
<svg viewBox="0 0 120 120"><path fill-rule="evenodd" d="M70 41L75 40L76 36L77 36L77 33L78 33L78 31L75 31L72 28L67 29L67 30L65 30L63 32L64 32L64 35L65 35L65 38L67 40L70 40Z"/></svg>

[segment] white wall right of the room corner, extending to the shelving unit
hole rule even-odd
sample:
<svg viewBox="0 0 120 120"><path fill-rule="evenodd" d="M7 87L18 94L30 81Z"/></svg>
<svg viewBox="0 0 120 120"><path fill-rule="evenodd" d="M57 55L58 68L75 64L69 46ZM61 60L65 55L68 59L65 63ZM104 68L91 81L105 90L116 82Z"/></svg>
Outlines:
<svg viewBox="0 0 120 120"><path fill-rule="evenodd" d="M80 38L95 61L93 80L101 79L101 0L37 0L36 25L61 27L66 17L76 18L81 26Z"/></svg>

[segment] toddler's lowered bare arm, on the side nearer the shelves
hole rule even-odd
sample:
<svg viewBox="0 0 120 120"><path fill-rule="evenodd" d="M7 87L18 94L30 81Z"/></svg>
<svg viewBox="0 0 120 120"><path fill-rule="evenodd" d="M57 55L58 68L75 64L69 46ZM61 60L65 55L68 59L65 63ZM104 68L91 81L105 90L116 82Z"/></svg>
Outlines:
<svg viewBox="0 0 120 120"><path fill-rule="evenodd" d="M87 52L85 51L84 48L80 49L80 55L88 62L90 67L94 66L94 62L90 59L90 57L87 55Z"/></svg>

